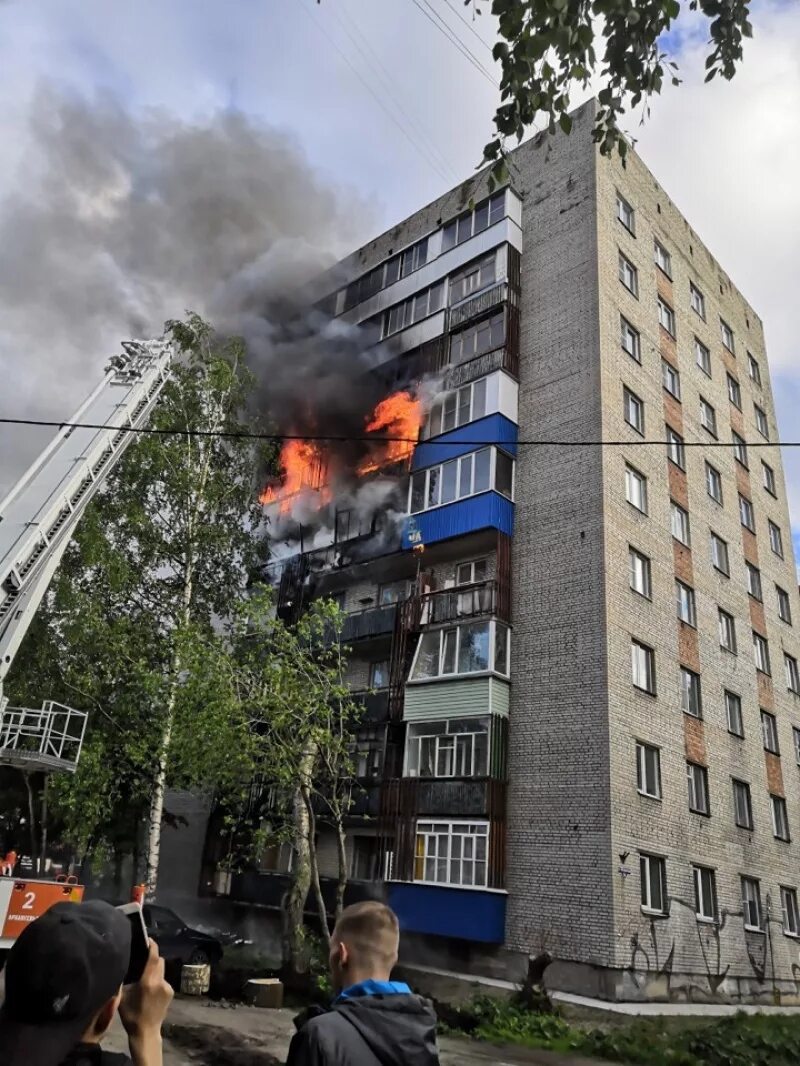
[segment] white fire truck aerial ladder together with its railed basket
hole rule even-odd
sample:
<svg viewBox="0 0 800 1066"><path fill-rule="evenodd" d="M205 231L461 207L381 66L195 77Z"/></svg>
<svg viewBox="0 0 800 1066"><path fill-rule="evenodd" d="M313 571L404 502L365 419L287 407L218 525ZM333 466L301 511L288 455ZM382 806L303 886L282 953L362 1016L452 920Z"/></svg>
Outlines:
<svg viewBox="0 0 800 1066"><path fill-rule="evenodd" d="M167 341L122 348L102 382L0 502L0 765L47 773L78 764L85 712L52 700L41 710L9 707L3 679L90 500L169 378Z"/></svg>

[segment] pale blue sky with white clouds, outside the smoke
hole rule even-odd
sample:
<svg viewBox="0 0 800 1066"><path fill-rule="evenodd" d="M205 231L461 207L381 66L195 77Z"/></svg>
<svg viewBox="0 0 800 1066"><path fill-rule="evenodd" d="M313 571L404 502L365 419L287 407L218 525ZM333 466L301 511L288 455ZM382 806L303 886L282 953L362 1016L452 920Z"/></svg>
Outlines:
<svg viewBox="0 0 800 1066"><path fill-rule="evenodd" d="M460 0L431 4L492 70L489 3L474 21ZM731 84L703 85L704 38L694 25L671 37L679 45L684 84L654 103L644 128L631 123L630 132L764 319L781 435L800 439L794 314L800 4L759 0L753 21L755 37ZM350 204L351 242L469 174L491 133L497 97L491 78L411 0L5 0L0 196L25 188L31 101L43 81L87 95L109 92L135 113L157 109L203 123L233 109L274 126ZM106 354L90 359L87 370L70 362L59 389L48 392L41 387L43 375L52 376L46 353L22 355L11 341L0 324L0 369L5 381L9 371L19 379L17 406L52 415L82 394ZM12 453L33 447L17 449L20 441L12 447L0 436L6 474ZM785 463L800 547L800 449L787 451Z"/></svg>

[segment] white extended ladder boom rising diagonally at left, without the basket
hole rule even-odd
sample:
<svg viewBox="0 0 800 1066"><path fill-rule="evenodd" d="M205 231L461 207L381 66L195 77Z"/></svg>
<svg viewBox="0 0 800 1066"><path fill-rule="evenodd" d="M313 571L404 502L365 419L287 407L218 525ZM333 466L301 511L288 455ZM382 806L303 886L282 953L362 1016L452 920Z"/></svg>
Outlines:
<svg viewBox="0 0 800 1066"><path fill-rule="evenodd" d="M3 678L92 497L144 425L173 358L164 340L127 341L70 423L0 503L0 717ZM0 739L2 747L2 739Z"/></svg>

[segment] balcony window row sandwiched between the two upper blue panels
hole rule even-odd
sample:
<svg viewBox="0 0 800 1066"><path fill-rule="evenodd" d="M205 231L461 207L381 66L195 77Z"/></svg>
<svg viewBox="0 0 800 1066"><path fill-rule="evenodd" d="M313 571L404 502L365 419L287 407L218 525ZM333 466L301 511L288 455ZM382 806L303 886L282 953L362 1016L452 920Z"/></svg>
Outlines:
<svg viewBox="0 0 800 1066"><path fill-rule="evenodd" d="M409 511L418 514L491 488L511 498L514 463L496 448L482 448L427 470L417 470L409 487Z"/></svg>

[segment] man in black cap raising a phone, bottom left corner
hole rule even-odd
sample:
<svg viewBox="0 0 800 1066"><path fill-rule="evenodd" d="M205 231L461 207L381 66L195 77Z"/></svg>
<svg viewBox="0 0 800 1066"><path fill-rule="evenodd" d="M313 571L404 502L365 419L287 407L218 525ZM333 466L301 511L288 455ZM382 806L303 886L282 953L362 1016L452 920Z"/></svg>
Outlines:
<svg viewBox="0 0 800 1066"><path fill-rule="evenodd" d="M109 903L57 903L32 922L5 964L3 1066L161 1066L164 963L150 941L142 980L123 996L129 959L128 919ZM117 1008L131 1059L100 1047Z"/></svg>

